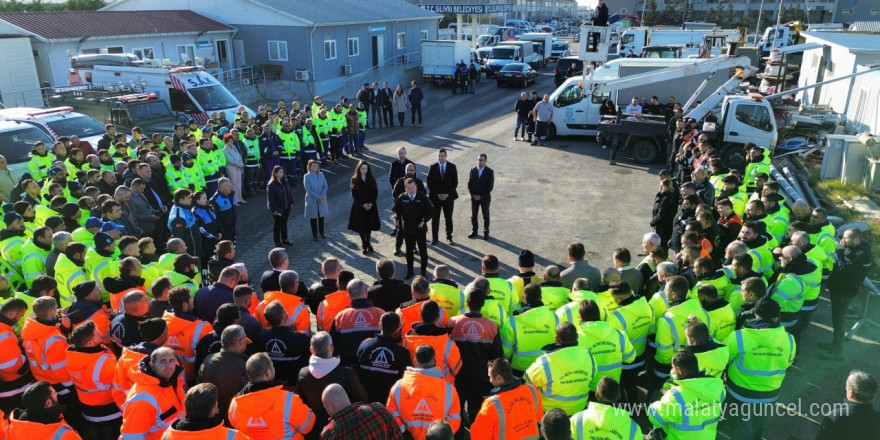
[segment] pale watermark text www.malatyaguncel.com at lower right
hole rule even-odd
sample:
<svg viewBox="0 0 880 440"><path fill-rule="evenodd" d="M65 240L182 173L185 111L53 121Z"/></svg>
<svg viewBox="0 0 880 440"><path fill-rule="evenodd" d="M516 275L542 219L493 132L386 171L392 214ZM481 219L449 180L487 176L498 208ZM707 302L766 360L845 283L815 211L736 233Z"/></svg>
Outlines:
<svg viewBox="0 0 880 440"><path fill-rule="evenodd" d="M630 415L647 414L650 404L621 403L618 408L629 411ZM795 402L742 403L742 402L688 402L684 406L668 405L664 407L664 417L721 417L725 419L749 420L752 417L824 417L832 412L846 416L849 406L843 402Z"/></svg>

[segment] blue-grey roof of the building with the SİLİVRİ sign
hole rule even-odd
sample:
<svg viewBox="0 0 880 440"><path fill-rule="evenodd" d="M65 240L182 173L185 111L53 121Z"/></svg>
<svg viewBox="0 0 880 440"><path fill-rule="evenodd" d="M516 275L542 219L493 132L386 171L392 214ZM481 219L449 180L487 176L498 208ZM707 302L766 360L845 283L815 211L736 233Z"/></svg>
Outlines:
<svg viewBox="0 0 880 440"><path fill-rule="evenodd" d="M370 23L414 18L439 18L401 0L253 0L269 8L302 19L310 24Z"/></svg>

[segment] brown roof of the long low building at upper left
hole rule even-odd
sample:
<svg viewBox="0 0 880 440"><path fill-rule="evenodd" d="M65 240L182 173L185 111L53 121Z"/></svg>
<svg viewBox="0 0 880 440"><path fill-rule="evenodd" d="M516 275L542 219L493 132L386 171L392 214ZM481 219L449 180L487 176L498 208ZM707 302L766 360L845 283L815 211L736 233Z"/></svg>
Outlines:
<svg viewBox="0 0 880 440"><path fill-rule="evenodd" d="M7 12L0 20L48 40L235 30L182 10Z"/></svg>

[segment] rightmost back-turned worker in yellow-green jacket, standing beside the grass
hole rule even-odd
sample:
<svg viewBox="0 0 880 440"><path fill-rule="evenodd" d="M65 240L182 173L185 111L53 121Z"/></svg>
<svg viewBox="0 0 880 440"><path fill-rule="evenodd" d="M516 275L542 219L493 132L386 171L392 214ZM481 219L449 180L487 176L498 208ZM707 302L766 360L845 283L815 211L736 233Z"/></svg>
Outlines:
<svg viewBox="0 0 880 440"><path fill-rule="evenodd" d="M765 295L753 310L755 319L721 342L730 353L725 403L740 408L738 414L725 416L730 438L761 438L768 420L767 411L761 409L779 399L779 389L797 350L794 337L779 325L776 301Z"/></svg>

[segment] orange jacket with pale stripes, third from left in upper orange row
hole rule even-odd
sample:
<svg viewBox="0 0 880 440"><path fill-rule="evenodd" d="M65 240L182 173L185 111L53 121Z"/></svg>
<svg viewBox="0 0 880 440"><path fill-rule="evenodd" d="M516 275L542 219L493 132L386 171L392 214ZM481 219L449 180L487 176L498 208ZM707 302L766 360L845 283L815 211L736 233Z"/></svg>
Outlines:
<svg viewBox="0 0 880 440"><path fill-rule="evenodd" d="M67 349L67 371L76 395L83 404L83 417L89 422L106 422L122 417L113 401L113 375L116 374L116 356L102 346Z"/></svg>

